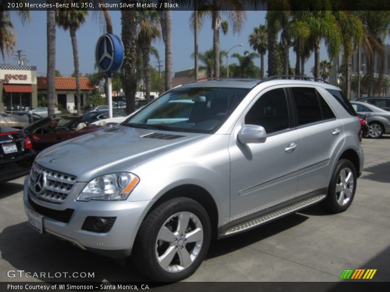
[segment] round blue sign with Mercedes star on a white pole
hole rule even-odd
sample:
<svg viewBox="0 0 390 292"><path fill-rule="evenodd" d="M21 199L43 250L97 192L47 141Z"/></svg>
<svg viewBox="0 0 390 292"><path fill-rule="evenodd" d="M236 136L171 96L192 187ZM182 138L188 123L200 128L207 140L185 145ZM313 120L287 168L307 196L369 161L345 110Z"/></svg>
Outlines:
<svg viewBox="0 0 390 292"><path fill-rule="evenodd" d="M96 64L100 72L108 74L117 72L123 63L123 43L113 34L104 34L96 44Z"/></svg>

